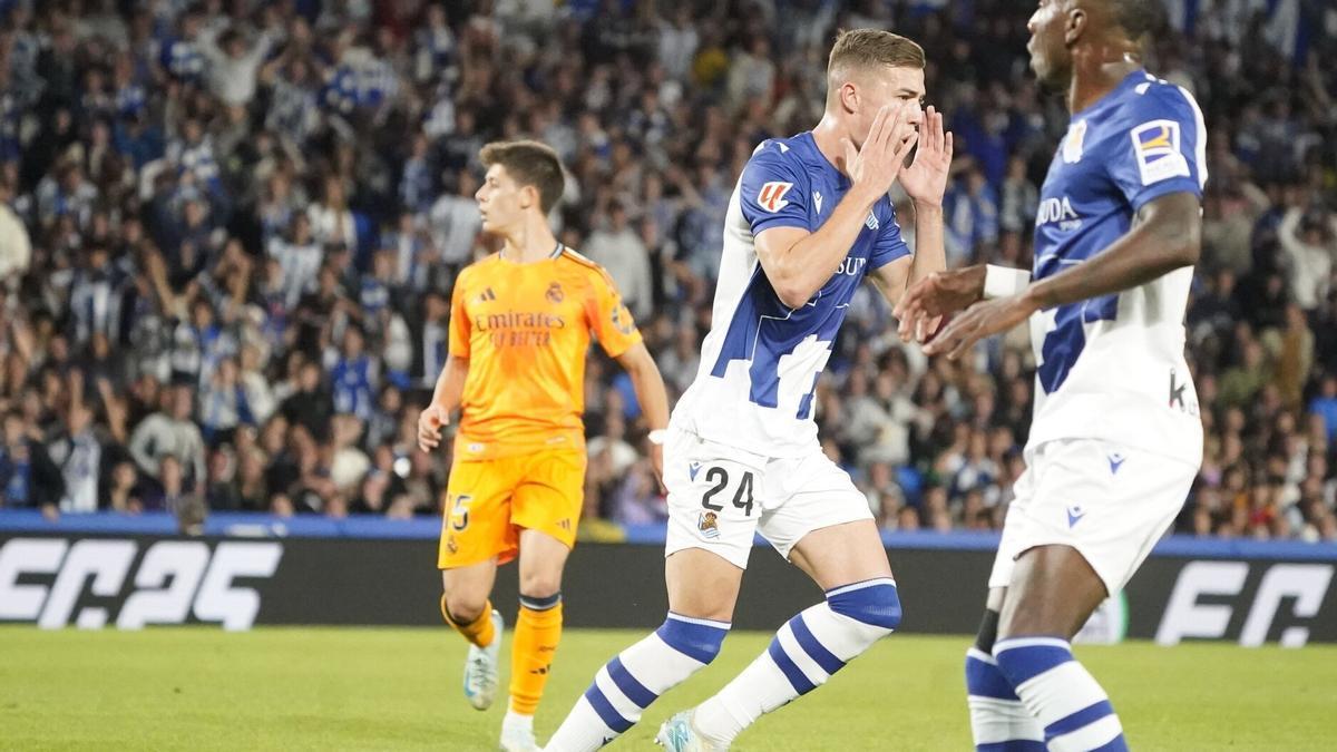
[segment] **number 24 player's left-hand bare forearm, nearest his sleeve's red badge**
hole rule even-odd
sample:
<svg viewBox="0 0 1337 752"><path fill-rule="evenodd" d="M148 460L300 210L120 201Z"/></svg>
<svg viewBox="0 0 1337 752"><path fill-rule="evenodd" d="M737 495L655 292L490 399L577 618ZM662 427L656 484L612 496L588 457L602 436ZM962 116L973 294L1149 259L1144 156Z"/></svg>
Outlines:
<svg viewBox="0 0 1337 752"><path fill-rule="evenodd" d="M868 213L877 195L852 189L832 210L832 215L816 233L800 240L789 250L777 254L773 268L766 269L779 301L789 308L806 304L840 268L849 249L864 230Z"/></svg>

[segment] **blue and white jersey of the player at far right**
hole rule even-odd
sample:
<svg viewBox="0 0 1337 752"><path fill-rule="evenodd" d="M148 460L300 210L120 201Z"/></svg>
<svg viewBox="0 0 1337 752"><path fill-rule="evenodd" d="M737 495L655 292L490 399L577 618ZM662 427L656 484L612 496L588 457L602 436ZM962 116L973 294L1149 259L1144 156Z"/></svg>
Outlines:
<svg viewBox="0 0 1337 752"><path fill-rule="evenodd" d="M1040 190L1034 278L1104 252L1166 194L1202 197L1206 127L1193 96L1146 71L1072 115ZM1098 438L1198 463L1202 424L1185 363L1193 269L1038 312L1031 446Z"/></svg>

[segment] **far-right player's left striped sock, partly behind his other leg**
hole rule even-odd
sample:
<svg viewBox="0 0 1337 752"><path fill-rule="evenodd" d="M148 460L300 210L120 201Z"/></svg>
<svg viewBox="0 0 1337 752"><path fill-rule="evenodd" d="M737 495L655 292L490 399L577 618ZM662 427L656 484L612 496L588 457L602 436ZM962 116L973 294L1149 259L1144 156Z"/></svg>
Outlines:
<svg viewBox="0 0 1337 752"><path fill-rule="evenodd" d="M979 648L965 653L965 693L975 752L1044 752L1040 723L1021 704L993 656Z"/></svg>

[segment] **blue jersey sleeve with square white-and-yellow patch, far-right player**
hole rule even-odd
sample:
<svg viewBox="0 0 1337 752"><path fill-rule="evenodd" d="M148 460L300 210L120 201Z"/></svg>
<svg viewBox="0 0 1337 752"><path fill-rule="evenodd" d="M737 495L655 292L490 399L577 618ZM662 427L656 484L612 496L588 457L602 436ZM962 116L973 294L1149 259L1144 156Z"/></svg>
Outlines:
<svg viewBox="0 0 1337 752"><path fill-rule="evenodd" d="M1132 100L1124 122L1127 132L1116 139L1108 165L1134 211L1171 193L1202 198L1207 179L1206 127L1187 92L1151 83L1146 94Z"/></svg>

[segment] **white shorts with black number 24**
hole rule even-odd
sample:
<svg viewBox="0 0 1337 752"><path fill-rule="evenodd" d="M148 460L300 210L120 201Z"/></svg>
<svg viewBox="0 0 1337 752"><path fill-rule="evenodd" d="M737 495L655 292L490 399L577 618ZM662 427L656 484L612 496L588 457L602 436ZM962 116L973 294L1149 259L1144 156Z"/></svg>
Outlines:
<svg viewBox="0 0 1337 752"><path fill-rule="evenodd" d="M739 569L754 533L787 559L813 530L873 518L868 496L816 444L804 456L766 458L670 428L664 486L664 555L705 549Z"/></svg>

